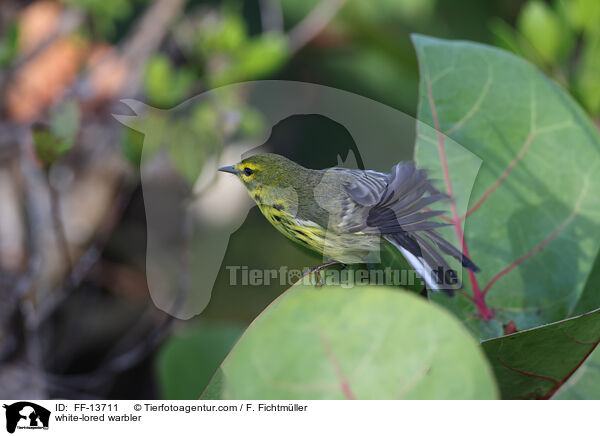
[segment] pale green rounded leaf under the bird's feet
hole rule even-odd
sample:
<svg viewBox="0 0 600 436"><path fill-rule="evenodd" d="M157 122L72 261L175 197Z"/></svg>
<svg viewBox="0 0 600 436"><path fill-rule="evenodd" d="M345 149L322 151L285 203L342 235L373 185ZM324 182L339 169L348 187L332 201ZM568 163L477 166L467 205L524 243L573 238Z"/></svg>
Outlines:
<svg viewBox="0 0 600 436"><path fill-rule="evenodd" d="M217 377L222 399L496 397L473 337L396 289L297 285L248 328Z"/></svg>

